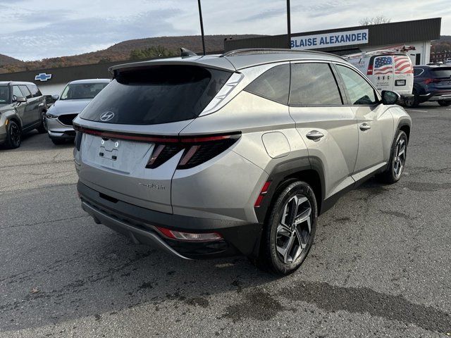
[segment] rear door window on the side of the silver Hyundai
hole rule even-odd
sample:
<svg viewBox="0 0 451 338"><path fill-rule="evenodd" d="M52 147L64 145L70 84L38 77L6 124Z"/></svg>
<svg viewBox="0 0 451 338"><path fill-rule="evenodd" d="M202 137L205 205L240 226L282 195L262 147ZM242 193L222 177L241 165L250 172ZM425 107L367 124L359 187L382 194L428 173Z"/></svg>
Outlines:
<svg viewBox="0 0 451 338"><path fill-rule="evenodd" d="M342 104L337 82L328 63L291 65L290 106Z"/></svg>

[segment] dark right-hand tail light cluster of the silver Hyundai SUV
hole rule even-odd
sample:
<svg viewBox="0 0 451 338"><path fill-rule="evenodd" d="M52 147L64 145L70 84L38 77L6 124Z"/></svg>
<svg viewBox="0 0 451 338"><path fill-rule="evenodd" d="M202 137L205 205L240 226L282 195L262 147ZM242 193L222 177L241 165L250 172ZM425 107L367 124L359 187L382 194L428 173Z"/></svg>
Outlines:
<svg viewBox="0 0 451 338"><path fill-rule="evenodd" d="M156 142L154 151L146 168L157 168L175 154L183 151L177 169L189 169L209 161L234 144L241 136L238 134L221 134L196 137L179 137L178 142Z"/></svg>

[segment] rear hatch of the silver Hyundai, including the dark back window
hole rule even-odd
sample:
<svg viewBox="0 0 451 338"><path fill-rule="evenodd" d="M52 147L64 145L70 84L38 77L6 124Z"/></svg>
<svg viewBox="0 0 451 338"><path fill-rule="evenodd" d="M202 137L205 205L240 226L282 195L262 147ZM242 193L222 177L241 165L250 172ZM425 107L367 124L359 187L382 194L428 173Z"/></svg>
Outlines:
<svg viewBox="0 0 451 338"><path fill-rule="evenodd" d="M80 181L105 199L172 213L171 180L185 152L178 134L230 75L201 65L116 70L74 121Z"/></svg>

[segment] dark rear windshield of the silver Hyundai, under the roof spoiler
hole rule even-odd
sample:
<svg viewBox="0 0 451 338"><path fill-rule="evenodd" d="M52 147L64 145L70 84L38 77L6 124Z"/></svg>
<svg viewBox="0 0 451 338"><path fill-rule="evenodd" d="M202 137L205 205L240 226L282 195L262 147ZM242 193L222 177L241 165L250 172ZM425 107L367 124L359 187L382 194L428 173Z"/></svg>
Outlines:
<svg viewBox="0 0 451 338"><path fill-rule="evenodd" d="M88 104L80 118L128 125L197 118L231 74L194 65L123 70Z"/></svg>

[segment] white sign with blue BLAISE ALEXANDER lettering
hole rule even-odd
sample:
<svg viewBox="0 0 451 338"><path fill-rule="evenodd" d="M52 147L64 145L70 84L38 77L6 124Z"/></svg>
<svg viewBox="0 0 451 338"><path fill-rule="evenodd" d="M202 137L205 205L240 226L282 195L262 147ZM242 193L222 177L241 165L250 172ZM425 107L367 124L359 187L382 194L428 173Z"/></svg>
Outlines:
<svg viewBox="0 0 451 338"><path fill-rule="evenodd" d="M367 44L368 30L350 30L291 38L291 49L316 49L350 44Z"/></svg>

